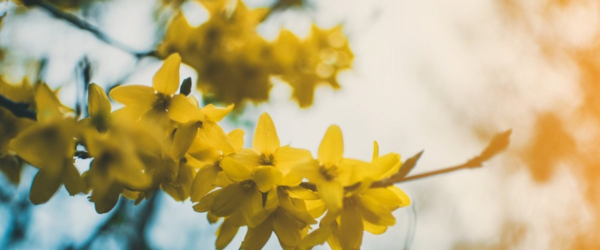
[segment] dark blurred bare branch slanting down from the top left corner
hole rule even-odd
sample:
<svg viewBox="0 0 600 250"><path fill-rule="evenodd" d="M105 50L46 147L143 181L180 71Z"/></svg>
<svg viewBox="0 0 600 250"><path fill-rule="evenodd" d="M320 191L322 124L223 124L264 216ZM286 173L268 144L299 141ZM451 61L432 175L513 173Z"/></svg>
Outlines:
<svg viewBox="0 0 600 250"><path fill-rule="evenodd" d="M71 24L77 26L77 28L80 28L80 29L90 32L96 38L98 38L98 40L103 41L104 43L109 44L111 46L114 46L124 52L130 53L131 55L136 56L136 58L142 58L144 56L157 56L155 51L140 52L139 50L133 49L133 48L127 46L126 44L121 43L120 41L114 40L113 38L104 34L104 32L100 31L100 29L98 29L96 26L92 25L91 23L88 23L85 20L80 19L79 17L75 16L74 14L66 13L66 12L62 11L61 9L59 9L58 7L56 7L55 5L53 5L50 2L47 2L45 0L25 0L25 1L23 1L23 3L27 6L37 5L38 7L41 7L44 10L47 10L50 14L52 14L52 16L55 16L58 19L62 19L67 22L70 22Z"/></svg>

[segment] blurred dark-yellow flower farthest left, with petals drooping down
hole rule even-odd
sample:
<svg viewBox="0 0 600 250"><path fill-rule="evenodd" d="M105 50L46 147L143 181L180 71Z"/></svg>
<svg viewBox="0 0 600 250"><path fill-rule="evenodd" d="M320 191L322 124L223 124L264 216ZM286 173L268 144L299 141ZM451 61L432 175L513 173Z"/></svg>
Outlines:
<svg viewBox="0 0 600 250"><path fill-rule="evenodd" d="M64 117L62 106L47 85L35 92L38 124L29 126L10 141L10 149L29 164L40 168L29 193L34 204L45 203L61 183L71 195L85 191L85 183L73 165L76 122Z"/></svg>

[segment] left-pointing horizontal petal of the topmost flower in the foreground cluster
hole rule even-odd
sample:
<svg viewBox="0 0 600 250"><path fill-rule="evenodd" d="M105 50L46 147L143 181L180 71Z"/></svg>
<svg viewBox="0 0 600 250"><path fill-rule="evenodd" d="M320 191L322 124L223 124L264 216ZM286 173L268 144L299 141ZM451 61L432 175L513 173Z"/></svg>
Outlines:
<svg viewBox="0 0 600 250"><path fill-rule="evenodd" d="M143 85L121 85L110 90L110 98L144 113L152 108L157 96L154 89Z"/></svg>

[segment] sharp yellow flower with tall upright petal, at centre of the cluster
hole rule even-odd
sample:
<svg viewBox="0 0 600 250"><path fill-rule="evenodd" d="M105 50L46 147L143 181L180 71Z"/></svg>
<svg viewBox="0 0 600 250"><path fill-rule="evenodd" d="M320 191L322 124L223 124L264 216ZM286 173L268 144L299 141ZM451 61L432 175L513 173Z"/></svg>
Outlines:
<svg viewBox="0 0 600 250"><path fill-rule="evenodd" d="M223 171L233 182L253 180L261 192L273 186L296 186L302 177L292 173L299 162L312 158L310 151L280 146L275 125L268 113L263 113L256 125L253 149L242 149L221 162Z"/></svg>

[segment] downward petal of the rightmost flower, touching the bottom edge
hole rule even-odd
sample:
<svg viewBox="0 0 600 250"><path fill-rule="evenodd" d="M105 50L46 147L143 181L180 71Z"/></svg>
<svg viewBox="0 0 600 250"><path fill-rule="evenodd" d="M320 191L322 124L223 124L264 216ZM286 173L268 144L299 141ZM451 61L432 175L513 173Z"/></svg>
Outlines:
<svg viewBox="0 0 600 250"><path fill-rule="evenodd" d="M344 207L340 213L340 244L343 249L359 249L362 243L362 218L356 207Z"/></svg>

